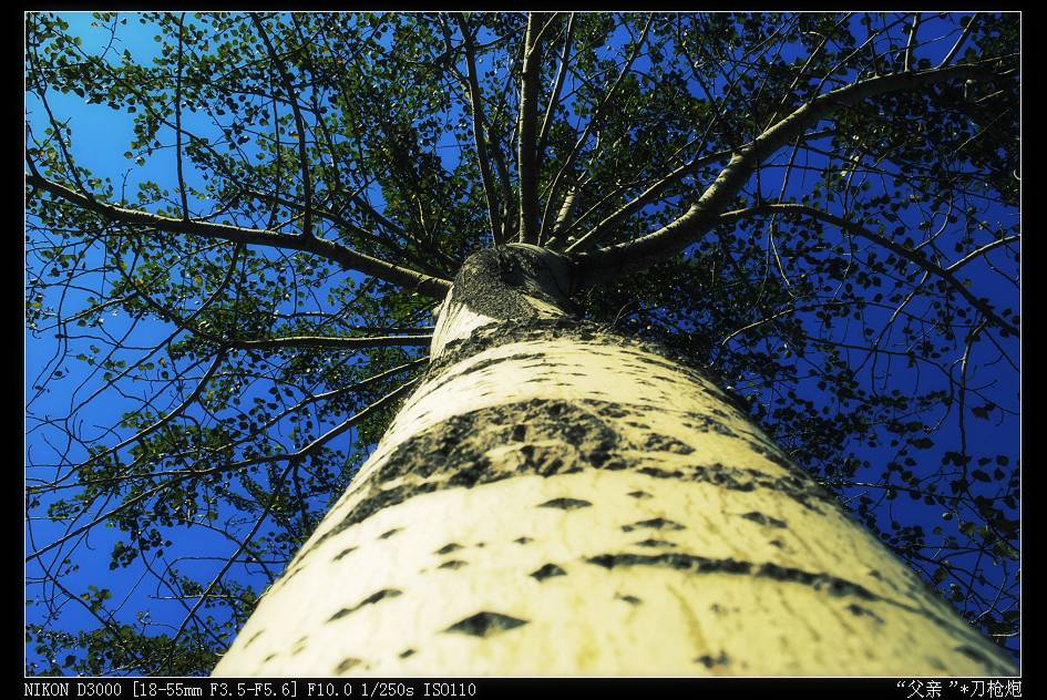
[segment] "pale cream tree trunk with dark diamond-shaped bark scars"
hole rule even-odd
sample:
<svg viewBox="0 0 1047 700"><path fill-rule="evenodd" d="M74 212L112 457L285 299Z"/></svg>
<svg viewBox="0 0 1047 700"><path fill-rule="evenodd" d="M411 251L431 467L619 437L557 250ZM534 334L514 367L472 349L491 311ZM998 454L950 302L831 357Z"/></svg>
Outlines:
<svg viewBox="0 0 1047 700"><path fill-rule="evenodd" d="M698 372L476 254L433 361L218 676L1009 675Z"/></svg>

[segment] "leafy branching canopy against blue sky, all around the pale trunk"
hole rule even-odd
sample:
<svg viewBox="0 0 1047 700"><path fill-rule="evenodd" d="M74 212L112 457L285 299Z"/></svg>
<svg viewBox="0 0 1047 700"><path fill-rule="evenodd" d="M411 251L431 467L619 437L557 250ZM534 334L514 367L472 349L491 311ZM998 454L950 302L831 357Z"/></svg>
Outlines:
<svg viewBox="0 0 1047 700"><path fill-rule="evenodd" d="M1018 29L29 14L29 672L206 672L513 240L1017 650Z"/></svg>

